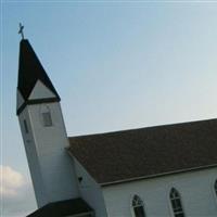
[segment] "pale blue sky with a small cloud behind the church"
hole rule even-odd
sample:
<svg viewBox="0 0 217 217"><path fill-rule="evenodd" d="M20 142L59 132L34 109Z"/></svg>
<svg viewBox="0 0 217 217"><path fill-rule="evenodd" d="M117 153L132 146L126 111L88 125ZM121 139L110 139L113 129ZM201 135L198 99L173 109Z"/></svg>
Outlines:
<svg viewBox="0 0 217 217"><path fill-rule="evenodd" d="M20 22L69 136L217 117L215 1L2 1L1 22L3 216L36 209L15 115Z"/></svg>

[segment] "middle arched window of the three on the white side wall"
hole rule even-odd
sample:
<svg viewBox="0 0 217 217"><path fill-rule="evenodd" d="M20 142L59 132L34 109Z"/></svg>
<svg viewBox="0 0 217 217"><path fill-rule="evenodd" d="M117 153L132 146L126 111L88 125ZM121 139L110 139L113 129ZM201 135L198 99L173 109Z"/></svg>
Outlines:
<svg viewBox="0 0 217 217"><path fill-rule="evenodd" d="M179 192L173 188L169 194L171 207L174 209L175 217L184 217L183 208L181 205L181 197Z"/></svg>

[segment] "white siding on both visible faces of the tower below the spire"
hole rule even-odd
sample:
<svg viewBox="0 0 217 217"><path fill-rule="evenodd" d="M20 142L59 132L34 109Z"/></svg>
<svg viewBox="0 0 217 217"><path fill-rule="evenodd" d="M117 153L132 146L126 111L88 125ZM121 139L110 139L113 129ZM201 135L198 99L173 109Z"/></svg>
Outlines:
<svg viewBox="0 0 217 217"><path fill-rule="evenodd" d="M53 126L44 127L41 119L43 104L28 105L20 115L29 169L38 206L47 203L77 197L77 180L74 162L65 148L68 139L60 103L48 103ZM29 133L23 129L27 119Z"/></svg>

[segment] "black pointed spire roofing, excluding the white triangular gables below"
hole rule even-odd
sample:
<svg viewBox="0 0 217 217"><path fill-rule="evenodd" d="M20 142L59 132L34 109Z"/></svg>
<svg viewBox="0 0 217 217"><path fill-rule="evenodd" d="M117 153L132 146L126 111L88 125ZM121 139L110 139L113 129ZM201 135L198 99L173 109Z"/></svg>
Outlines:
<svg viewBox="0 0 217 217"><path fill-rule="evenodd" d="M22 39L20 43L17 89L25 102L28 101L28 97L37 80L40 80L55 95L56 101L60 101L55 88L43 69L30 43L27 39Z"/></svg>

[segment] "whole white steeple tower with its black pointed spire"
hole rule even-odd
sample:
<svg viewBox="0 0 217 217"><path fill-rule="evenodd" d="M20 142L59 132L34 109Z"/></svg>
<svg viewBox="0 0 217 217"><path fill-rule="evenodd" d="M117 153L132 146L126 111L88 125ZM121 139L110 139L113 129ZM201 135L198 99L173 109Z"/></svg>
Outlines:
<svg viewBox="0 0 217 217"><path fill-rule="evenodd" d="M30 43L22 39L16 114L39 207L78 196L60 100Z"/></svg>

